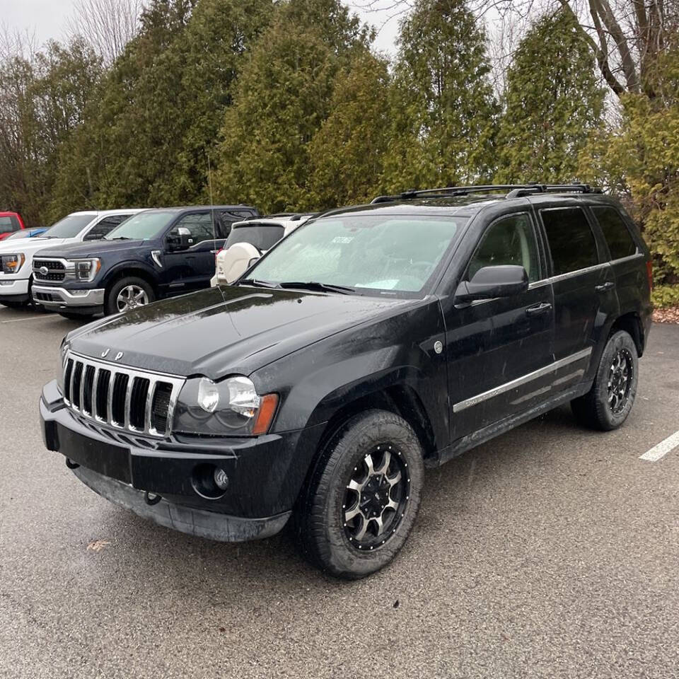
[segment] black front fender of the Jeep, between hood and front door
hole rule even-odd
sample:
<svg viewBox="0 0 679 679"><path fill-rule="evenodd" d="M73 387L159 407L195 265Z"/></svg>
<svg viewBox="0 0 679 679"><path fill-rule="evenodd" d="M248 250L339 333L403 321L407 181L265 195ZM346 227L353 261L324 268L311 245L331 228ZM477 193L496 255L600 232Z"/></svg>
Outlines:
<svg viewBox="0 0 679 679"><path fill-rule="evenodd" d="M275 432L328 422L356 400L398 388L417 397L440 448L448 444L448 389L436 341L445 341L437 302L328 337L251 377L260 393L281 395Z"/></svg>

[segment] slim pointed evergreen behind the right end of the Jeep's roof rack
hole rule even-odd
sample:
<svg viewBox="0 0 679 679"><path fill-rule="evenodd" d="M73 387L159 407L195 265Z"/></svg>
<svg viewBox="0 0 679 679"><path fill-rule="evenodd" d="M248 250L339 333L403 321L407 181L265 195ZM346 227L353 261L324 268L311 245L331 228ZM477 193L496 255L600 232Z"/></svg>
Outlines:
<svg viewBox="0 0 679 679"><path fill-rule="evenodd" d="M604 90L572 13L544 16L518 45L506 78L497 180L569 182L578 154L600 127Z"/></svg>

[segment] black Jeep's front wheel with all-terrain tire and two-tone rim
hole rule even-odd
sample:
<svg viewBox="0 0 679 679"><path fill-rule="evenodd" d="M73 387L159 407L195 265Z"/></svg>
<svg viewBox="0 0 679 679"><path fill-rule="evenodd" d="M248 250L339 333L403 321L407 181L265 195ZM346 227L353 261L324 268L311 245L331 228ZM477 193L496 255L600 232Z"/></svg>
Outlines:
<svg viewBox="0 0 679 679"><path fill-rule="evenodd" d="M296 506L294 529L305 557L351 580L388 564L417 516L422 458L422 446L402 417L368 410L349 419L323 449ZM364 487L359 492L349 484Z"/></svg>

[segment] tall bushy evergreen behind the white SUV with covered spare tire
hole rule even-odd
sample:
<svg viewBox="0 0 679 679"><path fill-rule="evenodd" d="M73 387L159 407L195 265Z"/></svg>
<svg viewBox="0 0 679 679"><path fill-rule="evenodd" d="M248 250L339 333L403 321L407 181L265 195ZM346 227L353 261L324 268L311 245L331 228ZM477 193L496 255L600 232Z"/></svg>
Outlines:
<svg viewBox="0 0 679 679"><path fill-rule="evenodd" d="M216 196L265 211L313 209L309 147L332 84L366 30L339 0L291 0L246 57L221 129Z"/></svg>

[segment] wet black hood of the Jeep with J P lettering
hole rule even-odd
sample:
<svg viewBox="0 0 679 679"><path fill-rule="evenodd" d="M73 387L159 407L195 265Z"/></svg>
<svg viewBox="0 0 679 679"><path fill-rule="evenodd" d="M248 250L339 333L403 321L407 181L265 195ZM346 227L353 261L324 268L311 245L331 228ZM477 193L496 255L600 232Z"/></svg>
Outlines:
<svg viewBox="0 0 679 679"><path fill-rule="evenodd" d="M419 300L224 286L175 297L71 332L80 354L213 380L249 375L298 349Z"/></svg>

